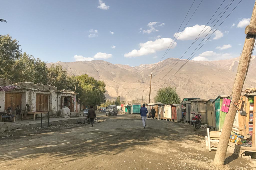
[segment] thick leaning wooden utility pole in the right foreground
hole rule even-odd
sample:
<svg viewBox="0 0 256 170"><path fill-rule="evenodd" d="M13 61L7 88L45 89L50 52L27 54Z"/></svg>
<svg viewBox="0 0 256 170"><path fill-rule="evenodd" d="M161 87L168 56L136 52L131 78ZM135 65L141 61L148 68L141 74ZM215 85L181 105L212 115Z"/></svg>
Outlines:
<svg viewBox="0 0 256 170"><path fill-rule="evenodd" d="M256 25L255 6L256 6L256 1L254 4L251 22L250 22L251 27ZM233 90L232 90L232 96L231 96L232 103L230 104L229 111L226 114L226 118L225 118L225 121L224 121L224 124L222 127L222 132L220 135L217 152L216 152L216 155L214 158L214 163L217 165L223 165L224 161L225 161L229 137L230 137L230 134L232 131L232 126L233 126L234 119L235 119L236 112L237 112L237 108L235 105L238 106L238 100L241 97L244 80L247 75L249 63L251 60L251 55L252 55L253 46L254 46L254 42L255 42L256 30L254 28L252 28L251 30L248 30L248 29L250 29L250 26L248 26L245 31L245 33L250 33L250 34L247 34L246 38L245 38L243 51L242 51L242 55L240 57L240 61L238 64L237 75L236 75ZM255 121L255 120L253 120L253 121Z"/></svg>

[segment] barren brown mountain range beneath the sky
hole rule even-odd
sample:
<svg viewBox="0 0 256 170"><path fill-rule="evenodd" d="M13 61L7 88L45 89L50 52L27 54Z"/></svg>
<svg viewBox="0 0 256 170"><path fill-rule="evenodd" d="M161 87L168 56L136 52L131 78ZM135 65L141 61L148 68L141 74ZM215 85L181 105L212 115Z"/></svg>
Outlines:
<svg viewBox="0 0 256 170"><path fill-rule="evenodd" d="M174 73L186 62L176 58L168 58L160 63L142 64L131 67L122 64L112 64L103 60L56 62L70 75L88 74L96 80L106 84L106 98L132 101L142 99L148 102L150 73L152 77L151 102L157 90L165 86L175 86L180 98L200 97L201 99L214 99L218 95L228 95L232 92L234 77L236 76L239 59L217 61L189 60L175 75ZM177 64L176 64L177 63ZM176 66L173 68L173 66ZM173 69L172 69L173 68ZM256 59L252 57L247 74L245 88L256 86ZM170 71L170 72L169 72ZM169 72L169 73L168 73ZM171 77L171 78L170 78ZM168 80L169 79L169 80Z"/></svg>

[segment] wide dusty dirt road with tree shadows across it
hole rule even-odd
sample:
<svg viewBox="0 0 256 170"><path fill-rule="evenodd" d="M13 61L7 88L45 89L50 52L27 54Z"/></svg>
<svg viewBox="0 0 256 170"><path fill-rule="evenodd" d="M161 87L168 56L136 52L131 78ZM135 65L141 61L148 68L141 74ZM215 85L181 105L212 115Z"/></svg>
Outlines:
<svg viewBox="0 0 256 170"><path fill-rule="evenodd" d="M152 119L143 129L140 117L98 115L108 120L2 134L0 169L255 169L255 160L231 154L214 166L205 129Z"/></svg>

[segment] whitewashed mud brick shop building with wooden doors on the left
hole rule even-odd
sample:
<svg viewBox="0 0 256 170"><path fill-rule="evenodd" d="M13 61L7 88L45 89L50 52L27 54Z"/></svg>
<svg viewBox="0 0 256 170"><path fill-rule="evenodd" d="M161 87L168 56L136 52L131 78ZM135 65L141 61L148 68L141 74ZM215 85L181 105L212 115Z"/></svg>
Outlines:
<svg viewBox="0 0 256 170"><path fill-rule="evenodd" d="M64 107L76 112L77 93L74 91L58 90L55 86L28 82L13 85L9 79L0 79L0 87L0 112L10 107L14 113L17 105L25 111L26 103L31 106L32 112L49 112L49 115L53 116Z"/></svg>

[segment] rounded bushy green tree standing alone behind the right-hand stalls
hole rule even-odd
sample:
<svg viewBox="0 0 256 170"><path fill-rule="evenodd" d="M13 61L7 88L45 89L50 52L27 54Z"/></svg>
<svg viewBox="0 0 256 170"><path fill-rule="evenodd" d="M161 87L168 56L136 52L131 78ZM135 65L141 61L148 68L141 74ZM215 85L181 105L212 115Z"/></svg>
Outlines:
<svg viewBox="0 0 256 170"><path fill-rule="evenodd" d="M163 87L157 91L155 102L162 102L165 104L178 104L181 102L177 94L176 87Z"/></svg>

